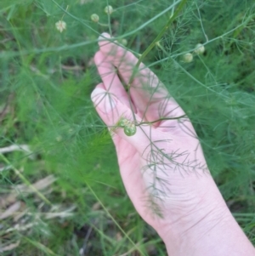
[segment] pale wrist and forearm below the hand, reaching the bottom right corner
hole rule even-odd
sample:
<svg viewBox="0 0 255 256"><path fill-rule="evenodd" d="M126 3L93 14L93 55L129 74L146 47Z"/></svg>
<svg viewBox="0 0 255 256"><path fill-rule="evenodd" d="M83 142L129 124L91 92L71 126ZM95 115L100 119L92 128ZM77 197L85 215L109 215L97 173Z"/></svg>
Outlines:
<svg viewBox="0 0 255 256"><path fill-rule="evenodd" d="M184 214L167 232L160 234L168 255L255 255L252 243L236 223L219 191L209 197L209 203L202 203L202 200L193 212Z"/></svg>

